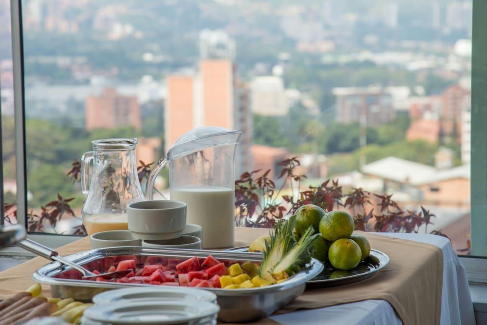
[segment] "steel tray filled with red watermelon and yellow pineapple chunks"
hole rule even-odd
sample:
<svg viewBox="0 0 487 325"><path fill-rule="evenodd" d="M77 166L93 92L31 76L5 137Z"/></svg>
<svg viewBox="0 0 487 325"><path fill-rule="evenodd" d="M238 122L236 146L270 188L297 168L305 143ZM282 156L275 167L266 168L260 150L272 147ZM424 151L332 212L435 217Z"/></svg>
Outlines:
<svg viewBox="0 0 487 325"><path fill-rule="evenodd" d="M134 272L110 281L82 280L78 271L52 262L39 268L33 278L50 285L53 297L88 302L96 294L116 288L197 287L217 295L218 318L224 322L249 322L270 315L302 294L306 282L323 270L318 260L310 258L292 275L284 278L281 273L280 280L265 280L260 275L262 254L214 250L115 247L65 258L92 271L131 268Z"/></svg>

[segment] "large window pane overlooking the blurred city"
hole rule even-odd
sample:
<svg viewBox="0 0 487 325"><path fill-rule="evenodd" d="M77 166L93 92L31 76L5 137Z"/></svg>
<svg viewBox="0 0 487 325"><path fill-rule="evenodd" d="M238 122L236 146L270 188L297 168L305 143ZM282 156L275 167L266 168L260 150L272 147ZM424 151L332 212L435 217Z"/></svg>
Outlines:
<svg viewBox="0 0 487 325"><path fill-rule="evenodd" d="M28 210L74 198L73 213L35 231L79 225L85 196L76 168L67 174L91 140L137 136L148 164L189 129L219 125L244 131L239 175L273 170L274 196L260 203L285 215L312 186L335 200L321 199L328 208L363 199L340 206L360 229L441 233L468 253L471 0L22 8ZM239 225L270 225L240 199Z"/></svg>

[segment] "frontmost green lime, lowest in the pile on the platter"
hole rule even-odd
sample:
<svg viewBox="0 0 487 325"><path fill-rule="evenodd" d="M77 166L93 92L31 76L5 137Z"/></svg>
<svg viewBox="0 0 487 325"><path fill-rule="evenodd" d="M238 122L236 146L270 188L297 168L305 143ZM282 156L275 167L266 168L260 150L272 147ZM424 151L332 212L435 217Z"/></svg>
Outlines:
<svg viewBox="0 0 487 325"><path fill-rule="evenodd" d="M350 270L362 260L362 252L356 242L341 238L333 242L328 250L328 258L334 268Z"/></svg>

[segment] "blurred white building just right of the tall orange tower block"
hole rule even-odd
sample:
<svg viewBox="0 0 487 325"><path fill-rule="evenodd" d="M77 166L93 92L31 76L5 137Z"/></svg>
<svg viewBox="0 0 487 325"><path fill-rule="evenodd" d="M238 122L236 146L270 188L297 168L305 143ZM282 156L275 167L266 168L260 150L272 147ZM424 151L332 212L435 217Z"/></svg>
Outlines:
<svg viewBox="0 0 487 325"><path fill-rule="evenodd" d="M289 107L281 77L255 77L250 84L250 90L253 113L266 116L287 114Z"/></svg>

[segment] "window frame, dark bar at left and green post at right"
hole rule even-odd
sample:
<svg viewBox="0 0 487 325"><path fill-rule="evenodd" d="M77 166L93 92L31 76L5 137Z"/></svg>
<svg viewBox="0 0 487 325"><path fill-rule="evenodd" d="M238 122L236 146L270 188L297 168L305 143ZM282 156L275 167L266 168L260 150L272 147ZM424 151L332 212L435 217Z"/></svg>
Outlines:
<svg viewBox="0 0 487 325"><path fill-rule="evenodd" d="M482 31L487 30L487 19L483 13L487 12L487 1L472 0L472 100L471 134L482 132L487 121L487 56L483 56L482 49L487 50L487 37ZM21 0L10 0L11 31L12 31L12 59L14 74L14 118L15 118L15 148L16 148L16 180L17 207L19 224L27 225L27 179L25 162L25 105L24 105L24 57L22 37L22 6ZM481 69L480 69L481 68ZM1 130L0 130L1 132ZM482 136L472 136L471 141L471 239L472 253L487 255L487 142ZM1 148L1 145L0 145ZM1 162L0 162L1 164ZM0 165L1 166L1 165ZM0 180L3 176L0 171ZM3 182L0 184L2 189ZM474 193L480 193L474 195ZM484 194L482 194L484 193ZM3 200L3 191L0 193ZM3 205L1 207L3 209ZM3 213L1 214L3 216ZM3 217L1 218L3 224ZM28 238L44 245L59 247L73 242L80 236L28 233ZM478 244L480 243L480 244ZM479 246L481 245L481 246ZM23 250L8 248L2 254L23 255ZM469 281L487 283L487 258L480 256L460 256L460 260L467 268Z"/></svg>

